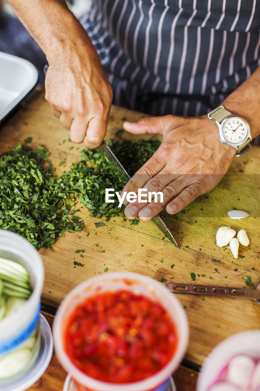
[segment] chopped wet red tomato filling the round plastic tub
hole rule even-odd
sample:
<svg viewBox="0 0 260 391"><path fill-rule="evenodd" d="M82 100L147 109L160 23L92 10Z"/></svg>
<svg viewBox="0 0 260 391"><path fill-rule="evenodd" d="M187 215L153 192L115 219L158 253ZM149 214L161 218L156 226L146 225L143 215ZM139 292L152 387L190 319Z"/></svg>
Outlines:
<svg viewBox="0 0 260 391"><path fill-rule="evenodd" d="M99 293L75 308L65 350L84 373L98 380L129 383L158 372L178 341L160 303L131 291Z"/></svg>

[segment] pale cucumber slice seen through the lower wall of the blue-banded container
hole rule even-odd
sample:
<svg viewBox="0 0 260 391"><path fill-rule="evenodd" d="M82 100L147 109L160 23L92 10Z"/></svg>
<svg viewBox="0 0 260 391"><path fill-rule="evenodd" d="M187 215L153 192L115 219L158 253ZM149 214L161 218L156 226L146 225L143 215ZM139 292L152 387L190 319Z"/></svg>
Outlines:
<svg viewBox="0 0 260 391"><path fill-rule="evenodd" d="M27 364L31 354L31 349L20 348L4 357L0 357L0 378L10 377L20 372Z"/></svg>

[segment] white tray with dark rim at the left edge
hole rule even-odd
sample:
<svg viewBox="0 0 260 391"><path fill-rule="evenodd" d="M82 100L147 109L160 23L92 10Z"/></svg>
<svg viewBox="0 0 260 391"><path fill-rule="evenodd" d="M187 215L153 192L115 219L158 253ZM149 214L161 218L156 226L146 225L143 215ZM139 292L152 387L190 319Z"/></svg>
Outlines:
<svg viewBox="0 0 260 391"><path fill-rule="evenodd" d="M0 123L34 88L38 72L29 61L0 52Z"/></svg>

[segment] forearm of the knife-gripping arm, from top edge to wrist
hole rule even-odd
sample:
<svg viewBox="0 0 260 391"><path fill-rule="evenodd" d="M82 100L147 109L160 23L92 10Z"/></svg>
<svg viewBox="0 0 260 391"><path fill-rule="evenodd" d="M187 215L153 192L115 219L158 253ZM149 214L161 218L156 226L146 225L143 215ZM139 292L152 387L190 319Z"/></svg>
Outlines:
<svg viewBox="0 0 260 391"><path fill-rule="evenodd" d="M45 53L47 60L93 45L64 0L8 0L12 9Z"/></svg>

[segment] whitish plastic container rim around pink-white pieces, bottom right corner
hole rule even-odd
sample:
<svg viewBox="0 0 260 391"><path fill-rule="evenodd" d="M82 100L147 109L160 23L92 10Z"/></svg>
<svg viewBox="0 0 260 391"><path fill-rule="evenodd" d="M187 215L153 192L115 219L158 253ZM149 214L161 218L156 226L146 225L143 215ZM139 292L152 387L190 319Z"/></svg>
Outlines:
<svg viewBox="0 0 260 391"><path fill-rule="evenodd" d="M260 359L260 330L243 331L224 339L206 357L199 373L196 391L208 391L232 357L245 354Z"/></svg>

